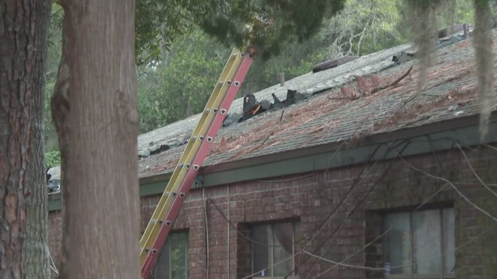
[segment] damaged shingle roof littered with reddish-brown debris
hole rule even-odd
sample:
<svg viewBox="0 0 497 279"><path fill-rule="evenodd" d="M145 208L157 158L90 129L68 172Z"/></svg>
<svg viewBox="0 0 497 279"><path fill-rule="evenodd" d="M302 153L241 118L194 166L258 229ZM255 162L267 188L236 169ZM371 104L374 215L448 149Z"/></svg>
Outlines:
<svg viewBox="0 0 497 279"><path fill-rule="evenodd" d="M392 61L393 55L409 50L410 45L310 72L286 81L284 86L254 93L258 101L271 100L272 94L284 100L288 89L309 93L309 97L223 127L201 170L208 172L216 165L324 144L354 145L371 135L477 114L474 50L470 40L455 41L440 45L438 61L428 70L421 94L416 94L418 67L414 61ZM243 101L235 100L230 114L242 114ZM492 103L497 110L497 100ZM145 153L139 159L140 178L173 171L199 117L197 114L138 137L139 153ZM157 153L149 155L150 149ZM54 168L50 173L57 178L60 170Z"/></svg>

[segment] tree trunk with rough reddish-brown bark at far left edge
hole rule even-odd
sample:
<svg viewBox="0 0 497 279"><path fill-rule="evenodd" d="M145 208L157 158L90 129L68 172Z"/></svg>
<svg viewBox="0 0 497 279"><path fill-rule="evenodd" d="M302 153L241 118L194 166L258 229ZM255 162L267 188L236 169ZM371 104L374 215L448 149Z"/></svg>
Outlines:
<svg viewBox="0 0 497 279"><path fill-rule="evenodd" d="M22 279L30 269L26 267L28 262L44 265L42 255L36 258L31 257L35 254L26 254L33 251L26 249L26 241L37 239L35 241L43 245L46 234L27 235L26 219L31 213L27 209L29 191L35 193L33 201L40 201L39 179L40 173L44 174L43 157L39 158L43 143L36 142L34 153L29 153L30 144L42 139L38 134L42 118L40 112L33 110L38 109L37 102L43 100L50 2L0 0L0 14L0 278ZM32 102L34 99L37 101ZM30 127L32 115L37 127ZM31 128L35 135L30 135ZM36 161L30 162L32 158ZM41 169L28 170L40 166ZM36 181L29 187L29 179L35 176ZM46 191L45 183L43 188ZM38 210L46 209L43 204L41 207ZM46 210L37 213L47 214ZM45 226L46 230L46 221L37 220L37 216L29 218L30 224L38 228Z"/></svg>

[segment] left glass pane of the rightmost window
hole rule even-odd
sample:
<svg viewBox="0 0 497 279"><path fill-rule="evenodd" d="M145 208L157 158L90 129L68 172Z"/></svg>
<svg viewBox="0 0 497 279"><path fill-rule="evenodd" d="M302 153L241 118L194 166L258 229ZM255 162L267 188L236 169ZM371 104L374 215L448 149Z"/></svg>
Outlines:
<svg viewBox="0 0 497 279"><path fill-rule="evenodd" d="M385 263L390 264L392 275L411 273L411 229L409 223L409 213L393 213L385 217L385 229L393 227L385 235Z"/></svg>

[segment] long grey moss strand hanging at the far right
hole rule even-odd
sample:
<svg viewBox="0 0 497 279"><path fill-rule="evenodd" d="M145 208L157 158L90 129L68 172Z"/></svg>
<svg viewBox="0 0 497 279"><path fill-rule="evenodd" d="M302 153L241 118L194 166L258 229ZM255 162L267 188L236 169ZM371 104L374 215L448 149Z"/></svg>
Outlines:
<svg viewBox="0 0 497 279"><path fill-rule="evenodd" d="M489 0L475 0L474 46L478 75L478 96L480 99L480 136L483 140L489 132L490 96L494 93L493 19Z"/></svg>

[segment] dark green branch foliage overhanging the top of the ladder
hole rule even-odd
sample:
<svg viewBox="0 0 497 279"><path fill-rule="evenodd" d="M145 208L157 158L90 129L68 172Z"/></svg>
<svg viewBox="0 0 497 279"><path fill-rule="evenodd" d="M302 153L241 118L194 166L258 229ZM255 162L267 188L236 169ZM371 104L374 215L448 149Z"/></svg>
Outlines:
<svg viewBox="0 0 497 279"><path fill-rule="evenodd" d="M267 30L252 37L251 44L263 60L278 55L288 43L304 42L321 28L325 16L343 8L345 0L232 0L201 18L200 26L226 45L244 45L244 26L254 16L271 21ZM254 27L254 29L257 29Z"/></svg>

